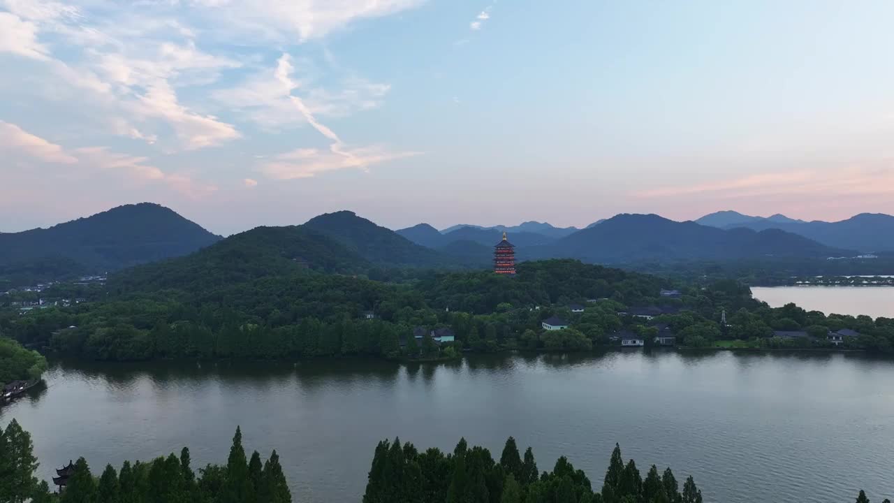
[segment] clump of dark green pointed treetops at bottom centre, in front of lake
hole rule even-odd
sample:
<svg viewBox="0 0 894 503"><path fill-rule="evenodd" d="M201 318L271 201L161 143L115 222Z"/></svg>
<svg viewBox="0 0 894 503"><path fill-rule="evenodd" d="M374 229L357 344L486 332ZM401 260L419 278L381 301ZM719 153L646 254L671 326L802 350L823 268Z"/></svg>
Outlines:
<svg viewBox="0 0 894 503"><path fill-rule="evenodd" d="M419 452L400 439L375 448L363 503L701 503L702 493L689 477L679 491L668 468L663 475L652 465L645 481L631 459L624 465L615 447L602 490L594 492L586 474L564 456L551 472L538 473L534 454L524 460L515 439L506 440L495 461L486 448L469 448L465 439L444 454Z"/></svg>

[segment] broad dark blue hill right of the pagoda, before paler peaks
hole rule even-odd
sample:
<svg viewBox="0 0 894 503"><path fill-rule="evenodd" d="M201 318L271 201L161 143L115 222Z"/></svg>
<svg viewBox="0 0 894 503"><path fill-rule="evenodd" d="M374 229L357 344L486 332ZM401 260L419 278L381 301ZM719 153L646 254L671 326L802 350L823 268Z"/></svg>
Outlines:
<svg viewBox="0 0 894 503"><path fill-rule="evenodd" d="M831 248L777 229L722 230L657 215L619 215L550 245L530 248L533 256L564 254L610 263L637 260L726 260L758 257L831 257L854 252Z"/></svg>

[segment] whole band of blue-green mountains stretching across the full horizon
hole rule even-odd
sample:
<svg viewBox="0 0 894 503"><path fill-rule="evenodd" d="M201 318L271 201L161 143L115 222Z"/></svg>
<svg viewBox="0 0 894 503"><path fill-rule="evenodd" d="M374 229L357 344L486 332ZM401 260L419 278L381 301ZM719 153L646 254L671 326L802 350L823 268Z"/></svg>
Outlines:
<svg viewBox="0 0 894 503"><path fill-rule="evenodd" d="M840 222L750 217L732 211L696 222L624 214L584 229L526 222L444 231L419 224L395 232L353 212L338 211L300 226L257 227L222 240L171 209L141 203L48 229L0 234L0 277L115 270L159 260L130 274L142 277L143 283L164 286L187 273L211 275L215 278L208 281L220 282L294 268L345 273L376 266L485 268L503 232L516 246L519 260L575 258L620 264L894 251L894 217L873 214ZM181 256L185 257L176 258ZM198 277L193 281L201 284Z"/></svg>

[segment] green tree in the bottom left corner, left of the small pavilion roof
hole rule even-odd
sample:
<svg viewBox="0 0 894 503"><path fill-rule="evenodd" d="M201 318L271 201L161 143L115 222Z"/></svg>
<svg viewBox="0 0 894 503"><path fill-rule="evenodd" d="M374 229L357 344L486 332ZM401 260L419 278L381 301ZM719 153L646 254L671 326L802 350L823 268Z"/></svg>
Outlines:
<svg viewBox="0 0 894 503"><path fill-rule="evenodd" d="M0 431L0 501L21 503L38 488L38 459L28 431L13 419Z"/></svg>

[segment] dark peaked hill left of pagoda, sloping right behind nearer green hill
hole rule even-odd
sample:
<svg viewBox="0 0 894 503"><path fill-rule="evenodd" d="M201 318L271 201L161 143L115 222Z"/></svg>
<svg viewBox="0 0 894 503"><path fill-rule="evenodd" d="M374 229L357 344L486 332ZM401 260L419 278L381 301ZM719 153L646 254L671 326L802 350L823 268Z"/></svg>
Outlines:
<svg viewBox="0 0 894 503"><path fill-rule="evenodd" d="M451 262L441 253L412 243L391 229L376 226L352 211L325 213L311 218L304 226L332 236L359 256L375 263L431 267Z"/></svg>

